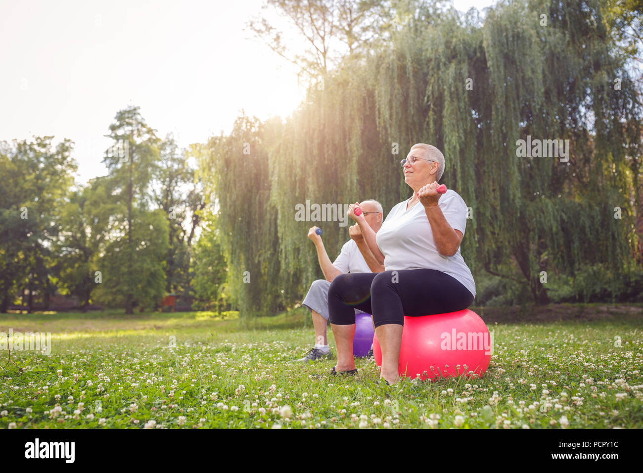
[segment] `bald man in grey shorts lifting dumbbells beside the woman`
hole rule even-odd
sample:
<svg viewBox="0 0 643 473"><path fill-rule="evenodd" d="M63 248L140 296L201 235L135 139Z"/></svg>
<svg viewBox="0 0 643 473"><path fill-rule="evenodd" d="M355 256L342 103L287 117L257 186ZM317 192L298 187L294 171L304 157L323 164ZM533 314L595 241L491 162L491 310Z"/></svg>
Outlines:
<svg viewBox="0 0 643 473"><path fill-rule="evenodd" d="M381 203L376 200L365 200L359 204L362 214L368 226L377 233L383 221L383 211ZM372 252L368 249L364 240L361 229L358 224L349 228L350 240L341 247L341 253L331 263L331 259L326 253L326 249L321 241L321 236L316 234L317 227L311 227L308 230L308 237L314 243L317 250L321 271L326 279L317 279L311 284L306 297L302 301L311 311L312 325L315 329L315 344L311 350L300 358L298 361L309 362L319 358L332 358L331 349L326 339L326 326L328 324L328 289L331 282L336 276L345 273L363 273L363 272L381 272L384 271L384 265L378 263ZM364 256L365 255L365 256ZM361 310L356 313L365 313Z"/></svg>

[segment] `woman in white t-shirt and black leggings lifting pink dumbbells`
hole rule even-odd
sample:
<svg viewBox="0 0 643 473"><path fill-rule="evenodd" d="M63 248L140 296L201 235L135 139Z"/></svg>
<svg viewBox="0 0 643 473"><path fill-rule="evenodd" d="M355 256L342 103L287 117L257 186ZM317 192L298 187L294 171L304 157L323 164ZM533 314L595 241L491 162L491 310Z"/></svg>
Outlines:
<svg viewBox="0 0 643 473"><path fill-rule="evenodd" d="M355 309L373 314L382 349L381 378L399 380L404 315L422 316L466 309L476 295L469 267L460 255L467 206L454 190L437 192L444 156L435 146L415 144L402 160L404 181L413 196L389 212L374 232L358 205L354 219L368 248L385 271L338 275L329 288L329 318L337 346L331 375L357 373L352 346Z"/></svg>

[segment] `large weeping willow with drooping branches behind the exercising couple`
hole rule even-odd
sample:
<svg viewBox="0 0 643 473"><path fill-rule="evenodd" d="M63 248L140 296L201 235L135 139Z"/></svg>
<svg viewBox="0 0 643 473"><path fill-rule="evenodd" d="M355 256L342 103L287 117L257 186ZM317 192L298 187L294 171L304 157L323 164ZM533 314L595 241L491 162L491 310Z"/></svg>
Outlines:
<svg viewBox="0 0 643 473"><path fill-rule="evenodd" d="M411 194L399 161L417 142L443 151L441 182L471 207L461 251L475 276L516 281L547 302L545 281L556 274L631 268L642 106L601 8L512 2L481 17L422 3L385 48L347 59L285 123L261 126L265 161L254 185L266 199L251 207L273 227L239 213L249 174L218 177L219 196L230 193L221 214L236 225L224 228L239 232L230 270L274 252L263 288L301 299L321 277L308 228L324 228L331 259L349 236L336 222L297 221L295 205L374 198L388 214ZM239 140L226 138L235 147L221 149L221 162L238 154ZM548 140L561 144L554 155ZM239 180L247 185L235 187Z"/></svg>

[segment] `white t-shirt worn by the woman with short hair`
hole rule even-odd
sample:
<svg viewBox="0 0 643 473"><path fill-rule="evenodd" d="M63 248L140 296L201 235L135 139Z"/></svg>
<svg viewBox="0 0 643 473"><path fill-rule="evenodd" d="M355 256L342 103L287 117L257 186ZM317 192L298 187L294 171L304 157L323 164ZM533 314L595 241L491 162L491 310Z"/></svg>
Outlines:
<svg viewBox="0 0 643 473"><path fill-rule="evenodd" d="M414 270L429 268L442 271L457 279L469 292L476 295L476 284L469 266L460 255L460 247L453 256L440 255L431 232L431 224L421 202L409 210L410 199L391 209L379 232L377 246L385 256L384 268L389 270ZM464 236L467 226L467 205L455 190L448 189L438 201L440 210L449 225Z"/></svg>

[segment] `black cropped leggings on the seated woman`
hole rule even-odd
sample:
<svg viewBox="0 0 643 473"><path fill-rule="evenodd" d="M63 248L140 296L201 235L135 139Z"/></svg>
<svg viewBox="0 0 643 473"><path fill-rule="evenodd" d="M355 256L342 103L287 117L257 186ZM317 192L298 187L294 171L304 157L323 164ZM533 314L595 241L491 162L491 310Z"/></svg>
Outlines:
<svg viewBox="0 0 643 473"><path fill-rule="evenodd" d="M404 325L404 315L420 316L466 309L473 294L442 271L419 269L340 274L328 290L332 324L355 323L355 310L373 315L376 327Z"/></svg>

